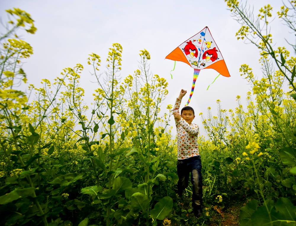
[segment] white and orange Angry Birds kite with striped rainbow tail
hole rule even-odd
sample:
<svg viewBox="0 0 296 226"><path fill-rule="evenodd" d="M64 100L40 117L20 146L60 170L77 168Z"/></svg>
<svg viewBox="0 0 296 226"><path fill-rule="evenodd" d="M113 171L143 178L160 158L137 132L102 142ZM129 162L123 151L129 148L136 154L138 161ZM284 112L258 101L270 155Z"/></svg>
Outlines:
<svg viewBox="0 0 296 226"><path fill-rule="evenodd" d="M225 77L230 77L222 54L216 45L208 27L205 27L196 35L183 42L168 56L166 56L165 59L175 61L175 65L176 61L182 61L194 68L192 88L186 105L188 105L190 102L194 91L195 82L198 75L200 74L201 69L211 68L218 71L219 75L221 74ZM215 80L218 78L218 76L215 78Z"/></svg>

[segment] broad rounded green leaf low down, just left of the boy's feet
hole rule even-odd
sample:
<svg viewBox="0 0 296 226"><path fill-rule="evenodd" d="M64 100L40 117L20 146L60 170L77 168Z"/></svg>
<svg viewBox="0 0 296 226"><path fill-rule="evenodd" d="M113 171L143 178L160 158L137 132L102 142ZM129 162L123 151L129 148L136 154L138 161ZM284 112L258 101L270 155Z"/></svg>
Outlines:
<svg viewBox="0 0 296 226"><path fill-rule="evenodd" d="M170 214L173 208L173 199L169 196L165 196L160 199L154 206L154 209L150 211L152 218L157 220L163 220Z"/></svg>

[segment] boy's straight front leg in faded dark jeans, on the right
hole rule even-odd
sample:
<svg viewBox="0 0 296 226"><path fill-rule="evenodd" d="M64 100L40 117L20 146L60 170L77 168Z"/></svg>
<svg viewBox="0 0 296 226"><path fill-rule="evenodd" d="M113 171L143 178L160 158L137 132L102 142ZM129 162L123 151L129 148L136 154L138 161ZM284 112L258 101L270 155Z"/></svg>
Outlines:
<svg viewBox="0 0 296 226"><path fill-rule="evenodd" d="M192 207L194 211L201 212L202 209L202 165L200 157L192 157L190 161L191 183L192 183Z"/></svg>

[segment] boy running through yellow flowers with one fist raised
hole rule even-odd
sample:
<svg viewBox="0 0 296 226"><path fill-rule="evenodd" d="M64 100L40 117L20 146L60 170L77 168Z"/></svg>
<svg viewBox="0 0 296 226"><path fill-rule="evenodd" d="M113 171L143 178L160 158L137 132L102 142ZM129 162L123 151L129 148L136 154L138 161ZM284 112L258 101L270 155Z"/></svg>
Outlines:
<svg viewBox="0 0 296 226"><path fill-rule="evenodd" d="M179 180L177 192L181 197L182 192L188 186L189 172L191 172L192 207L194 216L198 218L202 212L202 165L197 144L199 127L196 124L192 124L192 120L195 117L192 107L186 106L182 108L181 115L179 114L181 100L186 93L186 90L181 90L174 106L174 110L178 111L173 113L178 141L177 172Z"/></svg>

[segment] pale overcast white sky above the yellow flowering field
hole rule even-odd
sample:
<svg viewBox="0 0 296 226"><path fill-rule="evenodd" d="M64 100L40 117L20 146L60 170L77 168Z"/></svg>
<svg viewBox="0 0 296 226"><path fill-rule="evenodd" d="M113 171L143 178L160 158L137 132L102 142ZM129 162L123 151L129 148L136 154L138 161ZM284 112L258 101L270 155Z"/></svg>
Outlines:
<svg viewBox="0 0 296 226"><path fill-rule="evenodd" d="M245 1L242 1L245 2ZM271 4L273 16L283 3L279 0L248 0L254 14L259 9ZM187 102L192 86L193 68L183 62L165 59L171 51L188 38L207 26L226 62L231 77L219 76L213 69L201 70L195 84L189 106L195 110L195 119L202 127L199 113L206 115L207 107L217 108L216 100L221 100L223 109L237 107L236 97L245 99L251 91L247 81L240 76L239 67L249 64L254 74L262 77L258 49L252 44L237 40L235 33L240 28L237 21L226 9L224 0L208 1L22 1L1 0L1 21L7 21L6 9L20 8L28 12L35 20L37 31L34 35L22 35L30 43L34 54L25 60L23 69L29 84L38 86L41 79L60 75L65 67L83 64L85 70L81 75L81 87L85 89L86 103L91 103L92 91L97 88L93 83L90 68L87 67L88 54L96 53L101 57L101 71L105 69L108 49L112 43L123 47L122 70L124 78L139 68L140 50L146 49L151 55L150 70L168 81L168 96L161 109L165 111L168 104L174 104L181 89L187 90L182 104ZM1 32L3 32L1 27ZM282 25L279 19L271 22L273 44L286 46L285 38L295 42L294 34ZM208 85L209 90L207 90ZM186 99L186 100L185 100ZM174 122L171 121L171 125ZM205 131L201 131L206 135Z"/></svg>

